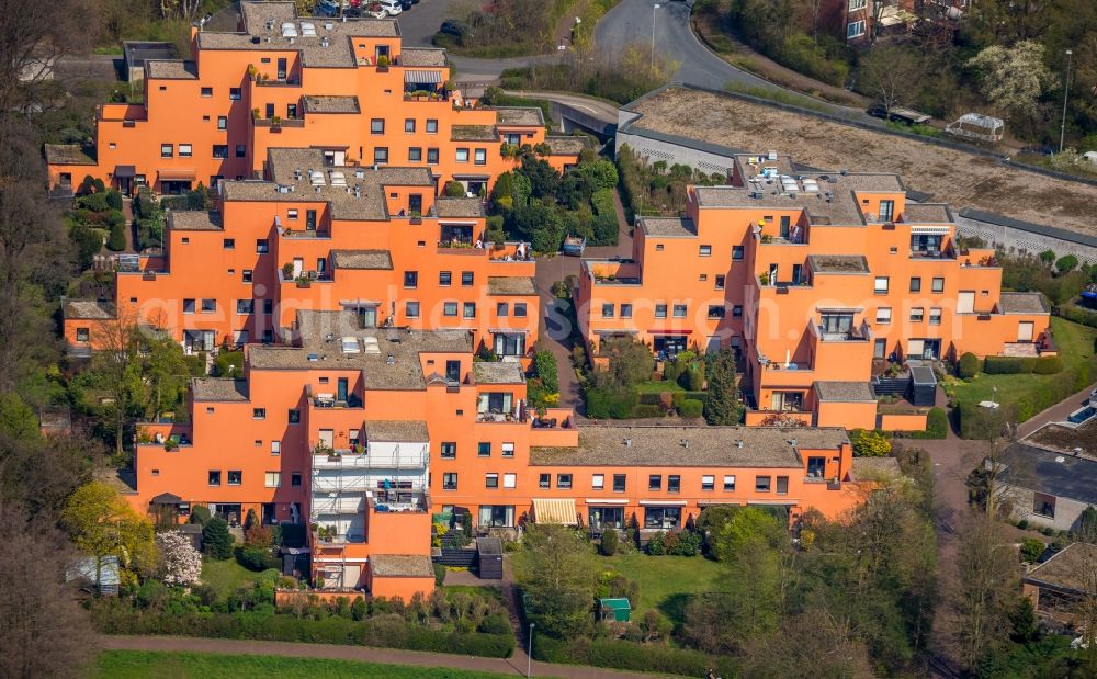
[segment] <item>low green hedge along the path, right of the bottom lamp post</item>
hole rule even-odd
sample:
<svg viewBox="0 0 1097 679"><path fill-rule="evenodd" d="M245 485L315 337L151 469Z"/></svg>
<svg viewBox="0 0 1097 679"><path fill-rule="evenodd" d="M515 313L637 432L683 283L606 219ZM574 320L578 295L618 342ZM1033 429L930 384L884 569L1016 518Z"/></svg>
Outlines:
<svg viewBox="0 0 1097 679"><path fill-rule="evenodd" d="M699 650L637 644L618 640L578 638L570 642L538 636L533 642L533 658L545 663L589 665L638 672L665 672L686 677L704 677L715 669L721 677L738 675L731 658L716 658Z"/></svg>

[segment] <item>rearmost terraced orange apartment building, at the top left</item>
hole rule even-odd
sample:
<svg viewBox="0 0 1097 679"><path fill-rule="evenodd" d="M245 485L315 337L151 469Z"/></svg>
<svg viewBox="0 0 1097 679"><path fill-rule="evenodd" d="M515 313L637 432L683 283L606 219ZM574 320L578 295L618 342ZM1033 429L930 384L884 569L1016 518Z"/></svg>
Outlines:
<svg viewBox="0 0 1097 679"><path fill-rule="evenodd" d="M444 50L403 48L395 20L298 18L293 2L242 2L240 16L236 33L193 30L193 60L148 61L144 103L99 106L93 149L48 145L50 185L91 174L182 193L261 178L271 148L315 148L339 166L425 168L475 196L511 167L504 144L575 162L579 142L546 137L540 109L475 106Z"/></svg>

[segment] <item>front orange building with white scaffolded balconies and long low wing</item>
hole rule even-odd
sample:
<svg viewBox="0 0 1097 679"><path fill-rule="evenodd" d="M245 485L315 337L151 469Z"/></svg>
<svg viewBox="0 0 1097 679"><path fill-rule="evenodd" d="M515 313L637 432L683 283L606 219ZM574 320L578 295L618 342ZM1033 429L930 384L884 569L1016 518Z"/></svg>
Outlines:
<svg viewBox="0 0 1097 679"><path fill-rule="evenodd" d="M654 532L711 505L837 517L871 487L841 429L579 429L532 412L520 366L473 347L468 330L301 310L292 343L246 347L244 378L193 381L191 423L140 426L131 500L307 521L325 588L407 598L433 587L437 513Z"/></svg>

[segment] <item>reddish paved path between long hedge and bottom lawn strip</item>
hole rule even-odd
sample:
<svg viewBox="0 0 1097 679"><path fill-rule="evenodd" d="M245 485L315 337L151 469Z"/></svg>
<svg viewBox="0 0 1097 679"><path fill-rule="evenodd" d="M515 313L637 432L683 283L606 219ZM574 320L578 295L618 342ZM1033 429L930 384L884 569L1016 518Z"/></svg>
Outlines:
<svg viewBox="0 0 1097 679"><path fill-rule="evenodd" d="M260 642L248 640L200 638L189 636L100 636L100 645L106 650L152 650L186 653L220 653L230 655L274 655L299 658L328 658L336 660L361 660L387 665L410 665L415 667L449 667L483 672L498 672L525 676L527 656L521 650L510 658L479 658L444 653L399 650L396 648L372 648L366 646L337 646L331 644L298 644L291 642ZM536 638L533 640L536 644ZM641 675L620 670L581 667L578 665L553 665L533 663L534 677L559 677L562 679L638 679L659 675Z"/></svg>

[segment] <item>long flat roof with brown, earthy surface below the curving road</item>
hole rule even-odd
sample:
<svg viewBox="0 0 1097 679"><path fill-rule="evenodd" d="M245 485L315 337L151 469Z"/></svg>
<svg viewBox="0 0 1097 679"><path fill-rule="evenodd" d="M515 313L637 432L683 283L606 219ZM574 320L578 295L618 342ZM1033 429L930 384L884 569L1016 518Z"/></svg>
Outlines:
<svg viewBox="0 0 1097 679"><path fill-rule="evenodd" d="M907 189L953 210L974 207L1097 236L1097 186L932 144L683 88L634 106L637 127L754 152L778 150L827 170L896 172Z"/></svg>

